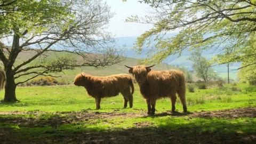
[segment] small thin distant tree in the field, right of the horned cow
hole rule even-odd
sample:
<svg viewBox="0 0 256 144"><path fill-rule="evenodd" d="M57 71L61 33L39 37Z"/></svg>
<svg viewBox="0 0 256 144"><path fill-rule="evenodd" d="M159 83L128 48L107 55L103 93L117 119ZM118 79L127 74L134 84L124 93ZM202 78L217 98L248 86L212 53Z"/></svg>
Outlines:
<svg viewBox="0 0 256 144"><path fill-rule="evenodd" d="M211 67L211 63L202 57L201 50L197 49L193 51L189 60L193 62L193 69L196 72L196 76L202 78L205 82L209 82L217 76Z"/></svg>

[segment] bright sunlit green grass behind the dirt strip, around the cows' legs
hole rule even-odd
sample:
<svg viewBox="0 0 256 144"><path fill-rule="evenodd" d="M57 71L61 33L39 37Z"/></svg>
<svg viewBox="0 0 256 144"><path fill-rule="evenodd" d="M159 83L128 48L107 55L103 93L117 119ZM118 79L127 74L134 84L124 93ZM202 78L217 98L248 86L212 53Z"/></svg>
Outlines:
<svg viewBox="0 0 256 144"><path fill-rule="evenodd" d="M255 92L247 92L246 84L238 84L242 91L233 91L231 85L225 87L213 87L212 89L195 89L194 93L187 91L188 110L222 110L256 105ZM252 88L250 88L252 89ZM1 95L3 95L3 91ZM133 94L133 109L122 109L123 97L119 94L117 97L102 99L101 112L109 112L120 109L121 112L146 110L145 99L141 97L139 87L135 86ZM17 98L21 102L0 103L0 111L77 111L92 109L95 111L94 99L87 95L83 87L74 85L63 86L31 86L18 87ZM251 101L249 105L248 101ZM113 104L114 103L114 104ZM157 100L157 113L171 109L169 98ZM181 103L177 101L177 109L182 110Z"/></svg>

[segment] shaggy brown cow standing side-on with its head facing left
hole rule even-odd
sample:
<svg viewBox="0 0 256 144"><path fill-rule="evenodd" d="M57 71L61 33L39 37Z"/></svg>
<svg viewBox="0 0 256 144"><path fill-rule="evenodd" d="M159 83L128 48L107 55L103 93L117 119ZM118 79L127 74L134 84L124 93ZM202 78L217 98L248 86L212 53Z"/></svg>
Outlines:
<svg viewBox="0 0 256 144"><path fill-rule="evenodd" d="M132 108L134 85L128 74L118 74L105 77L91 76L81 73L75 77L74 84L84 86L87 93L95 99L96 109L100 109L100 100L105 97L114 97L121 92L124 97L124 108L129 101Z"/></svg>

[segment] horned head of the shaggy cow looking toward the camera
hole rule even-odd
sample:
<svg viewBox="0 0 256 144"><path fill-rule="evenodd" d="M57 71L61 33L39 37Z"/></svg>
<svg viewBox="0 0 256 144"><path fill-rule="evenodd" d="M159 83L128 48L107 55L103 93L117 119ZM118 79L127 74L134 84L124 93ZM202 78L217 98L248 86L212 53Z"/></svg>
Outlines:
<svg viewBox="0 0 256 144"><path fill-rule="evenodd" d="M155 66L144 66L144 65L139 65L139 66L134 66L134 67L129 67L124 65L125 67L129 68L129 73L131 73L138 84L142 84L147 80L147 75L149 71L151 70L150 68Z"/></svg>

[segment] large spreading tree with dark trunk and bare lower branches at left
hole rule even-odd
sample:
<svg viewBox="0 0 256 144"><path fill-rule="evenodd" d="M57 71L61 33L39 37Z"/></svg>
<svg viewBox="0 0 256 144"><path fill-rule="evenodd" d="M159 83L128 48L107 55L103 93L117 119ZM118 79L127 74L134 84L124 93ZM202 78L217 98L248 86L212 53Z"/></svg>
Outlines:
<svg viewBox="0 0 256 144"><path fill-rule="evenodd" d="M4 102L18 101L15 89L39 75L81 66L104 67L120 61L106 32L113 16L101 0L22 0L0 2L0 60L6 72ZM17 62L22 53L30 53ZM65 52L76 54L54 56ZM54 57L49 59L49 56ZM17 82L23 76L25 81Z"/></svg>

